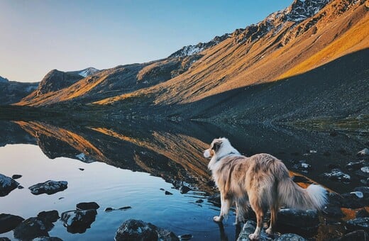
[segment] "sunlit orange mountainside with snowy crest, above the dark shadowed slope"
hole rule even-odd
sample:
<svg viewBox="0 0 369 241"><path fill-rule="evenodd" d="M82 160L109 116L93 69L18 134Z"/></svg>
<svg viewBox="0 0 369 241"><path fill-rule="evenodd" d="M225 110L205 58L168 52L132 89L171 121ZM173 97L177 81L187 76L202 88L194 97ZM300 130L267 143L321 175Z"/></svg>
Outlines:
<svg viewBox="0 0 369 241"><path fill-rule="evenodd" d="M356 56L350 54L369 47L365 38L369 35L365 28L368 9L362 0L295 0L290 7L271 13L257 24L208 43L182 47L163 60L106 69L94 78L86 77L17 104L94 103L108 106L112 112L125 112L127 106L132 108L131 103L137 103L143 115L147 106L158 110L160 106L174 106L177 109L158 115L192 118L181 113L181 106L193 103L194 108L200 108L196 103L208 97L279 82L345 55ZM356 77L354 73L351 78Z"/></svg>

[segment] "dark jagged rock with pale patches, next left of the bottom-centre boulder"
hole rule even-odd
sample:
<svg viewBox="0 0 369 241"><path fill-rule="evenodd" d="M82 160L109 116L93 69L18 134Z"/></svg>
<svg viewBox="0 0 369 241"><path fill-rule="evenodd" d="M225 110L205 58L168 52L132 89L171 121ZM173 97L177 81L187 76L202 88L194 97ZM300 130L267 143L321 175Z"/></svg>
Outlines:
<svg viewBox="0 0 369 241"><path fill-rule="evenodd" d="M97 211L89 210L75 210L62 213L62 222L67 227L70 233L84 233L96 219Z"/></svg>

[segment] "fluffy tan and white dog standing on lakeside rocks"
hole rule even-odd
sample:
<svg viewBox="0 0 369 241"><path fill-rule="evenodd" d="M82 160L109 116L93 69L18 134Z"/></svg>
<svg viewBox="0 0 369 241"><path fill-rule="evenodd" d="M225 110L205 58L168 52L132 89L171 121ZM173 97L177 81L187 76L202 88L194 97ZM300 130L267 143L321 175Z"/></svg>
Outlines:
<svg viewBox="0 0 369 241"><path fill-rule="evenodd" d="M212 178L221 193L221 211L214 216L221 222L236 203L236 223L244 222L250 206L256 214L255 232L250 240L258 240L264 213L270 209L270 226L265 232L272 235L280 206L320 210L326 204L326 189L312 184L307 189L292 181L285 164L268 154L245 157L226 138L214 139L204 157Z"/></svg>

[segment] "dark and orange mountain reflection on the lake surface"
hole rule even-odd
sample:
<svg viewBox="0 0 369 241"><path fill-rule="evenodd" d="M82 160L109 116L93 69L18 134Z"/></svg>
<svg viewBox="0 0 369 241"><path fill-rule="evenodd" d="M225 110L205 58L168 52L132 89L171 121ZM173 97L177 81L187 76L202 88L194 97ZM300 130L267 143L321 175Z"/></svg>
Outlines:
<svg viewBox="0 0 369 241"><path fill-rule="evenodd" d="M69 157L81 162L104 162L133 172L147 172L159 176L176 189L185 184L193 191L204 192L205 196L216 192L207 170L209 161L202 156L202 151L213 138L227 137L247 156L261 152L275 155L291 171L338 193L363 186L360 181L364 177L345 166L360 159L356 153L368 142L368 136L317 133L277 126L219 128L209 123L184 121L155 123L136 120L104 125L93 122L3 121L0 126L0 146L38 145L50 159ZM311 168L301 169L301 163L307 163ZM335 167L350 174L351 181L343 184L321 176ZM227 230L230 228L233 232L236 230L237 237L240 227L226 227L225 230L220 225L221 240L228 240ZM72 232L81 231L77 227Z"/></svg>

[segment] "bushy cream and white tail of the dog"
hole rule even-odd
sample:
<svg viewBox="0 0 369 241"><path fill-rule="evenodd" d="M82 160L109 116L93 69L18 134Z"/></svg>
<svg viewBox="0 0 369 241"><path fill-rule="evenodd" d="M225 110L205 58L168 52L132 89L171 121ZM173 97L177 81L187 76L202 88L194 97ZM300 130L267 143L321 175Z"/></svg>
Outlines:
<svg viewBox="0 0 369 241"><path fill-rule="evenodd" d="M280 204L290 208L321 210L326 204L326 189L315 184L303 189L290 176L279 180L277 191Z"/></svg>

